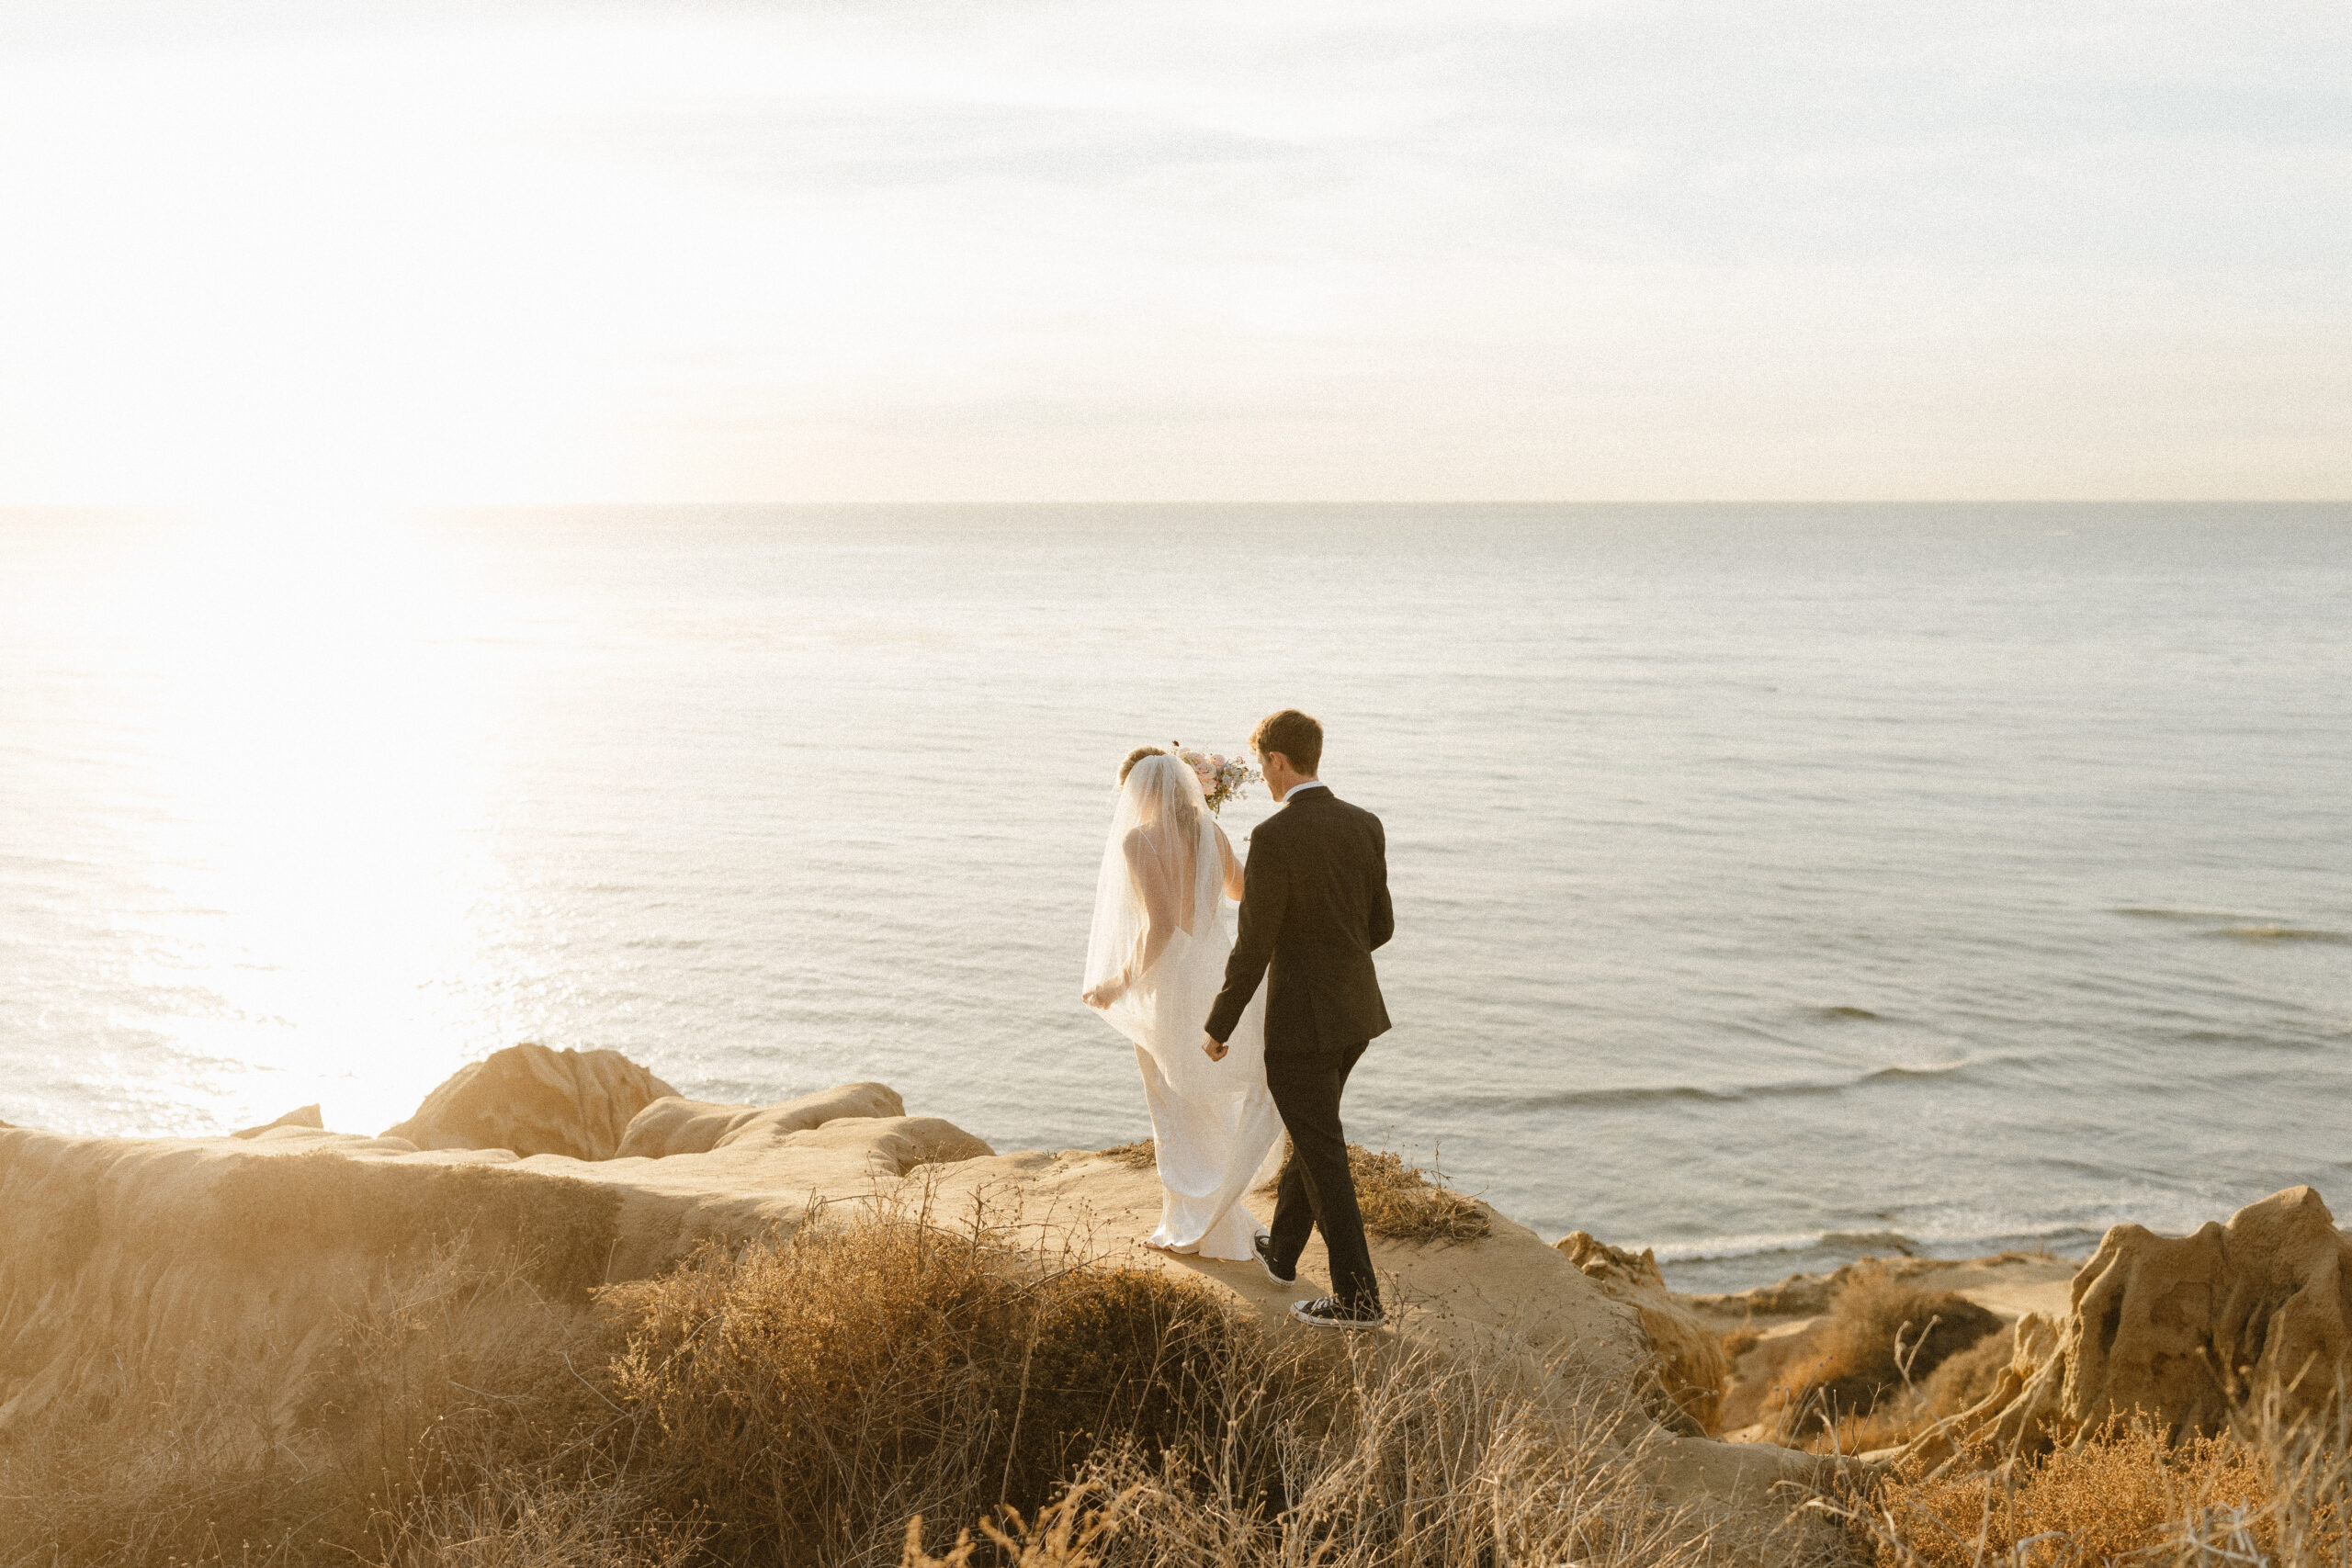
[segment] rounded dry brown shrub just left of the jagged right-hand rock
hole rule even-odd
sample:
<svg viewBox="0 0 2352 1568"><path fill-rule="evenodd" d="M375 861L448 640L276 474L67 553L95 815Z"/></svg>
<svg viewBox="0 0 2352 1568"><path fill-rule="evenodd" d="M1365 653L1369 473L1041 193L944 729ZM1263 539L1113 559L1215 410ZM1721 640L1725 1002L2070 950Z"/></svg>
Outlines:
<svg viewBox="0 0 2352 1568"><path fill-rule="evenodd" d="M1783 1373L1773 1389L1788 1432L1820 1432L1872 1415L1884 1399L1933 1375L2002 1326L1997 1314L1966 1295L1919 1291L1884 1272L1851 1279L1830 1302L1830 1314L1823 1347Z"/></svg>

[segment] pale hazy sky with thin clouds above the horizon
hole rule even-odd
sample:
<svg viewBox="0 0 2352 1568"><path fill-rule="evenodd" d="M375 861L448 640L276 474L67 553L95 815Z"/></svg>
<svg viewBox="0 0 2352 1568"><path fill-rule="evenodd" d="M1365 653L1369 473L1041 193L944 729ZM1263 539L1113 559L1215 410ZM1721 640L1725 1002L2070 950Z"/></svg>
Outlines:
<svg viewBox="0 0 2352 1568"><path fill-rule="evenodd" d="M2345 5L7 0L0 503L2352 496Z"/></svg>

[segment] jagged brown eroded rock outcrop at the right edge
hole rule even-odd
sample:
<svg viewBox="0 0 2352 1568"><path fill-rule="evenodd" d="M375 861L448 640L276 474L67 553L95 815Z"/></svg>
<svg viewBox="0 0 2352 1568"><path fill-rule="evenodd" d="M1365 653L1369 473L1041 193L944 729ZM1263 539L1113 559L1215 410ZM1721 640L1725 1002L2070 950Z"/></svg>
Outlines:
<svg viewBox="0 0 2352 1568"><path fill-rule="evenodd" d="M2201 1434L2265 1403L2326 1415L2352 1373L2352 1241L2310 1187L2187 1237L2117 1225L2065 1321L2027 1321L1994 1392L1912 1443L1917 1458L2070 1443L2133 1410Z"/></svg>

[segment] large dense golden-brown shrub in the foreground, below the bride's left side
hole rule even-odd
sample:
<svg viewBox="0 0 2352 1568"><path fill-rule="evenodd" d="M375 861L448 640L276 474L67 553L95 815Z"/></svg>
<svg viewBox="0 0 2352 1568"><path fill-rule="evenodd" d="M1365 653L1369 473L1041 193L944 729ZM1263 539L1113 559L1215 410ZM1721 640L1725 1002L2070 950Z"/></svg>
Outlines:
<svg viewBox="0 0 2352 1568"><path fill-rule="evenodd" d="M868 1208L609 1291L656 1502L722 1554L849 1559L908 1514L1040 1507L1103 1443L1207 1439L1225 1307L1162 1272L1040 1269L1014 1232Z"/></svg>

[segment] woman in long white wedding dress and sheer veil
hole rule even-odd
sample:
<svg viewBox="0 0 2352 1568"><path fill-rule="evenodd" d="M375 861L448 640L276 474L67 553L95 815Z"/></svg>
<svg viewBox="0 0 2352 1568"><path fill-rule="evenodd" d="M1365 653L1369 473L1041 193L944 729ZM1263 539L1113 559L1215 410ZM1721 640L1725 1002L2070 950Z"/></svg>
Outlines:
<svg viewBox="0 0 2352 1568"><path fill-rule="evenodd" d="M1256 1258L1265 1234L1242 1194L1282 1135L1265 1091L1265 992L1211 1063L1202 1023L1225 980L1242 863L1209 816L1200 778L1157 748L1120 766L1120 804L1094 889L1084 1001L1136 1041L1160 1154L1160 1229L1145 1246Z"/></svg>

